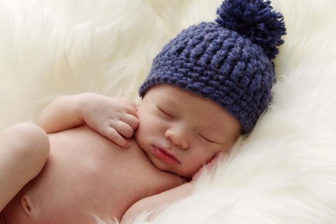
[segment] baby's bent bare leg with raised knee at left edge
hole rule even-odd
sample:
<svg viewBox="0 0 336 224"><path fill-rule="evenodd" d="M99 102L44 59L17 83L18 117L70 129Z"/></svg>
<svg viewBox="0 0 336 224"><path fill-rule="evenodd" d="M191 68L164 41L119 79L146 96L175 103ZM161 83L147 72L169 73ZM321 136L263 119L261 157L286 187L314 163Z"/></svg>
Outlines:
<svg viewBox="0 0 336 224"><path fill-rule="evenodd" d="M49 154L47 134L21 123L0 132L0 211L41 172Z"/></svg>

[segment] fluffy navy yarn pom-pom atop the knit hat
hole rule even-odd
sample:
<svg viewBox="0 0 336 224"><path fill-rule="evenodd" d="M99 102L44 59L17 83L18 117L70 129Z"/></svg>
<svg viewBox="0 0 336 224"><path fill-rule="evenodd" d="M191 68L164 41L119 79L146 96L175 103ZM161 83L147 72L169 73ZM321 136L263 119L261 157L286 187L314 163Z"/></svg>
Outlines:
<svg viewBox="0 0 336 224"><path fill-rule="evenodd" d="M277 46L283 44L286 34L283 15L272 10L271 1L227 0L218 8L216 22L224 28L237 31L260 45L270 58L278 54Z"/></svg>

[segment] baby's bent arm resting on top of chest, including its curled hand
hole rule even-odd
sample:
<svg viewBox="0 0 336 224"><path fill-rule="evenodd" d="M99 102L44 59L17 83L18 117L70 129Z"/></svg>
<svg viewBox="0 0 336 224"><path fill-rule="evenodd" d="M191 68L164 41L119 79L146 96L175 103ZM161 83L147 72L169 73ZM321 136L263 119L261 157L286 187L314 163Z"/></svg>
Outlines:
<svg viewBox="0 0 336 224"><path fill-rule="evenodd" d="M58 97L42 111L38 125L47 133L87 124L116 144L127 147L139 124L136 104L122 98L82 93Z"/></svg>

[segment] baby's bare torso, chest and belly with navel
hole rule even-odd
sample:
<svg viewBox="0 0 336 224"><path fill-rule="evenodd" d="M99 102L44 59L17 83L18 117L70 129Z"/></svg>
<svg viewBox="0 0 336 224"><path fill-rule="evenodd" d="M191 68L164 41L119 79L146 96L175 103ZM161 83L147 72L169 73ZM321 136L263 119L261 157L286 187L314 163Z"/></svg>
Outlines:
<svg viewBox="0 0 336 224"><path fill-rule="evenodd" d="M94 223L91 214L120 219L138 200L183 183L154 167L134 139L121 148L87 126L49 138L43 171L3 209L7 223Z"/></svg>

